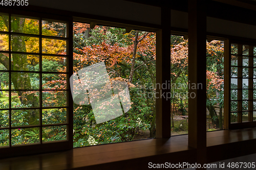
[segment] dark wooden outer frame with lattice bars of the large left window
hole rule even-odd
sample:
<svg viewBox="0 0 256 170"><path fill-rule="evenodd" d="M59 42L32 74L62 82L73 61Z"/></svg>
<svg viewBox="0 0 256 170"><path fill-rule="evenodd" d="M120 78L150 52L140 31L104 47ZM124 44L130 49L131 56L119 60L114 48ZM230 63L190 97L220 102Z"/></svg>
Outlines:
<svg viewBox="0 0 256 170"><path fill-rule="evenodd" d="M28 154L38 154L38 153L45 153L45 152L53 152L53 151L63 151L67 149L73 148L73 100L72 100L72 94L69 86L69 80L70 77L73 74L73 19L71 17L61 17L56 15L49 15L49 14L42 14L42 13L36 13L36 12L28 12L28 11L19 11L19 10L10 10L10 11L1 11L1 13L9 15L9 30L8 32L0 32L9 35L9 51L1 51L4 53L9 54L9 70L6 70L5 72L9 72L9 94L11 94L11 72L36 72L39 74L39 89L33 90L33 91L39 91L39 107L36 108L20 108L20 110L24 109L38 109L39 110L39 125L30 125L30 126L20 126L20 127L12 127L11 126L11 110L17 110L19 108L11 108L11 96L9 95L9 108L8 109L1 109L1 110L8 110L9 111L9 126L8 127L2 127L0 130L8 129L9 130L9 145L0 147L0 158L5 157L13 157L13 156L22 156L22 155L28 155ZM28 17L33 19L39 20L39 34L38 35L31 35L31 34L24 34L24 33L13 33L11 32L11 16L17 16L17 17ZM51 37L51 36L44 36L41 33L41 21L42 20L50 20L50 21L60 21L67 23L67 35L66 37ZM32 53L23 53L23 52L12 52L11 51L11 35L19 35L19 36L30 36L30 37L38 37L39 38L39 52L33 53L33 55L39 56L39 71L15 71L11 70L11 54L32 54ZM61 39L66 40L66 52L67 55L51 55L51 54L44 54L42 53L42 38L50 38L50 39ZM42 56L61 56L67 58L67 71L66 72L48 72L48 71L42 71L41 70L41 61ZM41 75L44 73L55 73L55 74L66 74L67 79L67 88L61 89L58 91L66 91L67 92L67 104L65 107L50 107L50 108L66 108L67 114L66 114L66 123L61 124L50 124L50 125L43 125L42 124L42 109L47 109L48 107L42 107L42 79ZM25 90L25 89L24 89ZM20 90L19 90L20 91ZM27 90L26 90L27 91ZM32 91L32 90L28 90ZM47 90L49 91L49 90ZM71 100L70 100L71 99ZM42 141L42 128L43 127L52 127L52 126L66 126L66 140L57 140L57 141L49 141L44 142ZM11 137L12 137L12 129L18 129L18 128L39 128L39 142L38 143L27 143L27 144L19 144L19 145L12 145L11 143Z"/></svg>

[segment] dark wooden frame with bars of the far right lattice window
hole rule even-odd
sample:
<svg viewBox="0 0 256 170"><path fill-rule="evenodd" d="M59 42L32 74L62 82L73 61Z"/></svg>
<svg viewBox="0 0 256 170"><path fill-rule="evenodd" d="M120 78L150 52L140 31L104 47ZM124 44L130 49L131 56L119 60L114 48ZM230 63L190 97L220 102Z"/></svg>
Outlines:
<svg viewBox="0 0 256 170"><path fill-rule="evenodd" d="M238 44L238 54L236 54L238 59L238 116L237 122L231 123L231 113L236 111L231 111L231 44ZM249 54L243 55L242 54L242 46L243 44L249 45ZM224 129L243 129L243 128L252 128L256 127L256 121L253 121L253 46L256 43L248 42L248 41L241 41L241 40L225 40L224 45ZM242 121L242 68L243 66L243 56L248 56L248 121ZM225 114L227 113L227 114Z"/></svg>

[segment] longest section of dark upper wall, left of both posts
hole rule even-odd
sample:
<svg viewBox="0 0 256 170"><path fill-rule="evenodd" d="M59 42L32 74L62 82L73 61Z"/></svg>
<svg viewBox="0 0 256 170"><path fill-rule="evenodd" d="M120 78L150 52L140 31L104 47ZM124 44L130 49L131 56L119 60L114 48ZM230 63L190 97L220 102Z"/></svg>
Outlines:
<svg viewBox="0 0 256 170"><path fill-rule="evenodd" d="M29 5L161 24L160 7L122 0L29 0Z"/></svg>

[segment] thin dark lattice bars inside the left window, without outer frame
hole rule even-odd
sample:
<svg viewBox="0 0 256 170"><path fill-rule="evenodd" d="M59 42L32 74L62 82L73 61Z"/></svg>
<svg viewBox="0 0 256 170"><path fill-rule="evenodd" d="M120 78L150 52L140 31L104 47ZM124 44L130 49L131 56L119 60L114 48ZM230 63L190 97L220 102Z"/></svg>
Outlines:
<svg viewBox="0 0 256 170"><path fill-rule="evenodd" d="M9 75L9 84L8 84L8 89L2 89L2 91L8 91L9 92L9 106L8 108L0 108L0 111L9 111L9 117L8 117L8 126L4 126L4 127L0 127L0 130L9 130L9 146L6 146L6 147L12 147L13 144L12 144L12 130L13 129L21 129L21 128L39 128L39 142L36 142L36 143L30 143L30 144L42 144L44 143L42 141L42 128L44 127L53 127L53 126L65 126L66 128L66 131L67 131L67 135L66 135L66 140L63 140L63 141L67 141L68 139L68 84L66 84L66 89L44 89L42 88L42 74L63 74L63 75L66 75L66 81L68 80L68 74L69 74L69 70L68 70L68 64L66 63L66 72L57 72L57 71L42 71L42 56L47 56L47 57L66 57L66 59L68 59L69 57L69 54L68 54L68 42L69 42L69 37L68 37L68 34L66 32L66 37L54 37L54 36L46 36L46 35L42 35L42 18L36 18L38 19L38 22L39 22L39 34L38 35L34 35L34 34L24 34L24 33L14 33L11 31L11 16L14 16L14 17L20 17L20 16L17 16L17 15L12 15L12 14L6 14L9 16L8 18L8 21L9 21L9 27L8 27L8 31L7 32L3 32L3 31L0 31L0 34L4 34L4 35L8 35L8 51L1 51L0 50L0 53L4 53L4 54L8 54L9 55L9 69L7 70L1 70L0 72L6 72L8 73ZM22 16L24 18L26 18L25 16ZM31 17L29 17L31 18ZM48 19L46 19L48 20ZM58 22L58 21L57 21ZM63 21L60 21L60 22L63 22ZM67 22L63 22L63 23L66 23L67 24L67 27L66 29L68 29L68 23ZM11 37L13 35L19 35L19 36L28 36L28 37L38 37L39 38L39 51L38 53L28 53L28 52L14 52L11 50ZM59 39L59 40L65 40L66 41L66 52L67 52L67 55L62 55L62 54L46 54L46 53L42 53L42 38L48 38L48 39ZM36 56L39 56L39 70L38 71L26 71L26 70L12 70L12 54L21 54L21 55L36 55ZM11 81L11 73L12 72L23 72L23 73L37 73L39 74L39 89L14 89L14 87L12 88L12 81ZM12 91L39 91L39 106L38 107L30 107L30 108L13 108L12 107L12 103L11 103L11 97L12 97ZM61 106L61 107L58 107L58 106L55 106L55 107L44 107L42 106L42 92L43 91L66 91L66 106ZM66 109L66 123L57 123L57 124L43 124L42 123L42 110L43 109L58 109L58 108L65 108ZM12 111L13 110L33 110L33 109L38 109L39 110L39 124L38 125L26 125L26 126L12 126ZM62 141L62 140L60 140ZM4 147L1 147L1 148L4 148Z"/></svg>

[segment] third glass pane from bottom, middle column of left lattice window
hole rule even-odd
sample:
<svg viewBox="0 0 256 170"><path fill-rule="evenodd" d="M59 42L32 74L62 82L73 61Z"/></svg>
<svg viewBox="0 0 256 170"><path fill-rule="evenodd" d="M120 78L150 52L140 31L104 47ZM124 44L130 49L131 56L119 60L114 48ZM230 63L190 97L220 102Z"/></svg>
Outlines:
<svg viewBox="0 0 256 170"><path fill-rule="evenodd" d="M39 91L12 91L11 108L39 107Z"/></svg>

